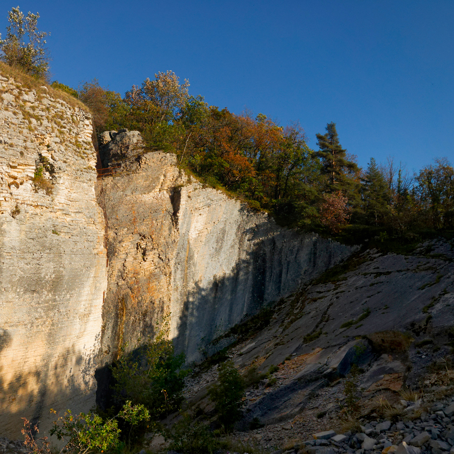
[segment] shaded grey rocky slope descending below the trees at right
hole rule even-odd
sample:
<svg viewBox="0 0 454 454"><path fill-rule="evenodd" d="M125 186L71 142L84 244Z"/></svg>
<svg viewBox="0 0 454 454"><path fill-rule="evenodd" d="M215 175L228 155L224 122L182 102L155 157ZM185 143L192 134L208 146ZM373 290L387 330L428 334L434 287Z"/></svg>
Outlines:
<svg viewBox="0 0 454 454"><path fill-rule="evenodd" d="M379 415L386 412L396 421L406 421L404 427L391 424L386 429L391 433L366 431L375 439L368 449L381 451L382 438L391 444L409 442L425 428L435 430L437 424L436 436L425 440L424 446L429 449L430 440L447 442L442 434L450 430L454 411L435 415L430 409L434 403L448 408L454 399L453 246L440 240L407 256L358 253L282 299L265 329L253 336L232 335L237 344L228 355L245 377L254 376L253 368L257 377L277 365L276 371L247 389L244 418L235 437L271 451L292 440L303 447L303 441L323 429L343 433L339 417L350 411L345 385L351 379L345 376L355 364L361 368L355 381L362 389L357 394L365 417L362 424L373 428L367 421L378 423ZM202 408L212 417L207 388L215 378L214 366L188 379L190 409ZM411 398L400 402L410 394L409 386L424 390L425 401L416 407ZM421 412L426 416L420 417ZM414 423L405 419L410 414ZM251 430L251 424L264 427ZM364 441L361 437L353 441L353 435L343 438L346 446L331 441L305 446L353 452Z"/></svg>

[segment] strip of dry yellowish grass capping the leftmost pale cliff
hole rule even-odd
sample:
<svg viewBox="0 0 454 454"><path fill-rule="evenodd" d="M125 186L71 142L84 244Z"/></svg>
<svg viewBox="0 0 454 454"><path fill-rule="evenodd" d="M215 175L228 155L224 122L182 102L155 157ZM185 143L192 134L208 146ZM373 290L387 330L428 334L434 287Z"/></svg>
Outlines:
<svg viewBox="0 0 454 454"><path fill-rule="evenodd" d="M71 107L79 107L85 112L90 113L90 115L93 115L90 109L79 99L76 99L74 96L71 96L63 90L51 87L46 79L30 76L29 74L23 72L20 68L9 66L0 62L0 76L11 77L15 82L20 83L24 88L35 90L38 95L48 94L54 99L65 101Z"/></svg>

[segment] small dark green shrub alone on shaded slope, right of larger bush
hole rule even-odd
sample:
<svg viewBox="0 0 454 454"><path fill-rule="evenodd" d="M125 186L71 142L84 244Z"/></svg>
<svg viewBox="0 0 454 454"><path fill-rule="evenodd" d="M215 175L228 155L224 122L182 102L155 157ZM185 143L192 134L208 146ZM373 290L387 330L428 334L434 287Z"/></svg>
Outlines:
<svg viewBox="0 0 454 454"><path fill-rule="evenodd" d="M222 363L218 371L219 378L211 386L209 396L218 413L219 422L225 430L230 430L241 418L244 382L232 360Z"/></svg>

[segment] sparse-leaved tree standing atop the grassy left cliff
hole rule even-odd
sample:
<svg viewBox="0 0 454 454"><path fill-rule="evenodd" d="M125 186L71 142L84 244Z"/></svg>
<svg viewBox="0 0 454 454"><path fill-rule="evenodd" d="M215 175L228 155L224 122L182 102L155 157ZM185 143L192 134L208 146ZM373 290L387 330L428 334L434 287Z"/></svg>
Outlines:
<svg viewBox="0 0 454 454"><path fill-rule="evenodd" d="M0 59L36 77L45 77L49 70L49 54L45 48L47 33L37 27L39 14L24 16L19 7L8 13L10 25L6 38L0 40Z"/></svg>

